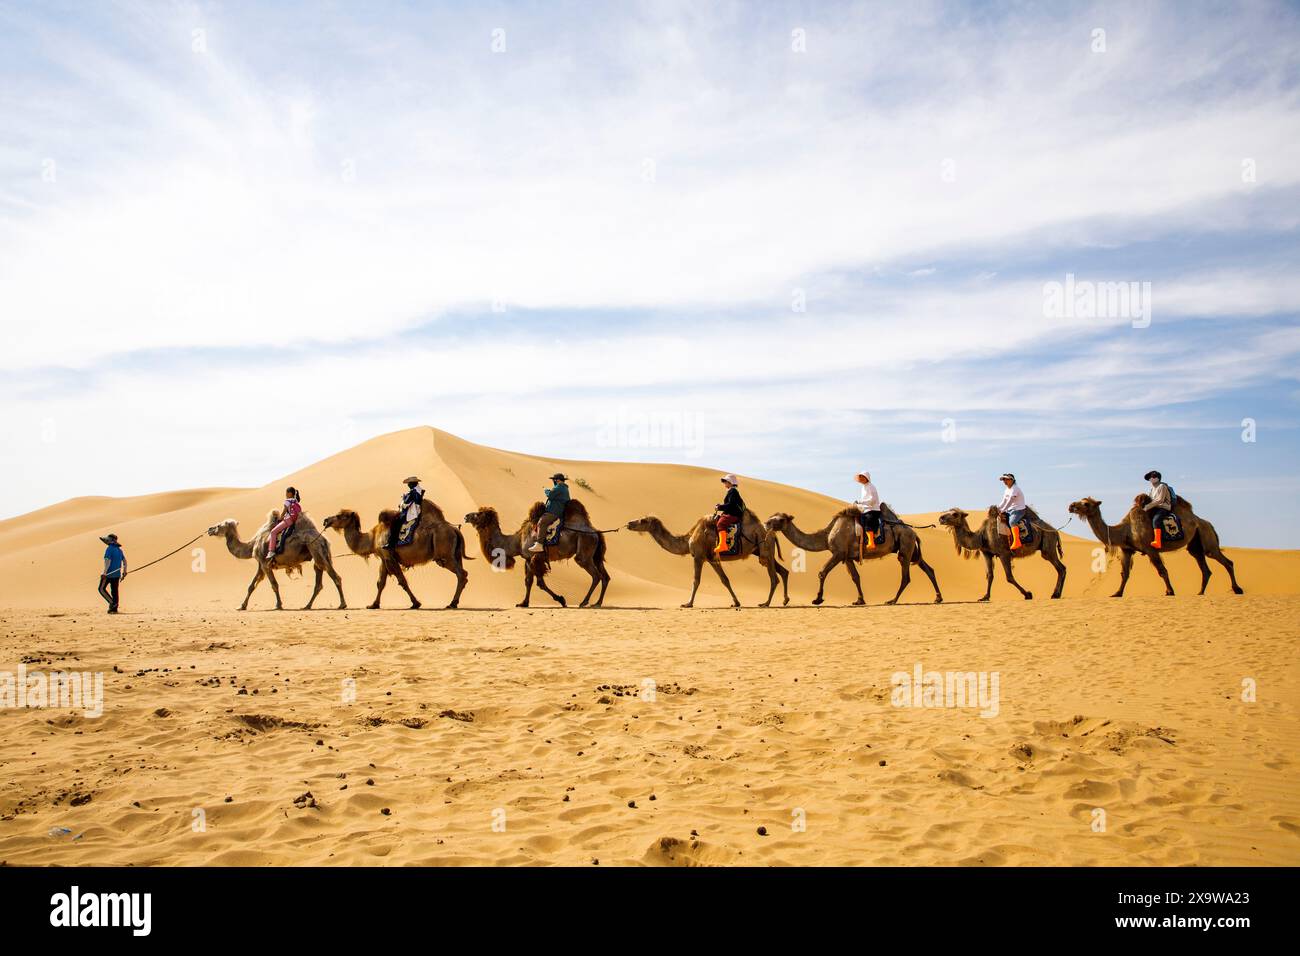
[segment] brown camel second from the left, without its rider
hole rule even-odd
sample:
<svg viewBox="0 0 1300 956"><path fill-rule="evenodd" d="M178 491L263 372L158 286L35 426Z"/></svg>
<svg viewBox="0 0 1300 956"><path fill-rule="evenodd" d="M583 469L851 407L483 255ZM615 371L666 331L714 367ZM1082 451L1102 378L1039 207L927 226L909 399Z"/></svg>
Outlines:
<svg viewBox="0 0 1300 956"><path fill-rule="evenodd" d="M430 561L456 576L456 593L452 594L447 607L459 607L460 592L465 589L465 583L469 580L464 562L473 561L465 554L465 536L460 533L460 528L447 522L442 509L432 501L425 501L420 506L420 523L416 525L411 544L399 546L394 554L384 548L384 544L389 538L389 527L395 516L396 511L381 511L378 523L365 532L361 531L360 516L347 509L325 519L325 527L339 532L352 554L360 554L363 558L380 558L380 579L374 601L367 607L374 610L380 606L380 596L384 594L384 585L387 584L389 575L398 579L398 584L411 598L411 609L420 607L420 600L411 591L404 571L416 564L428 564Z"/></svg>

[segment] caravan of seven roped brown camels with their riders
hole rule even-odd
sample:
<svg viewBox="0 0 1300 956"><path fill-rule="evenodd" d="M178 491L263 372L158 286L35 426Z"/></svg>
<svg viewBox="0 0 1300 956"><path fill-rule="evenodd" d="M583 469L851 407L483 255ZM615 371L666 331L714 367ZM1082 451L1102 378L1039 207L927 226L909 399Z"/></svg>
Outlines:
<svg viewBox="0 0 1300 956"><path fill-rule="evenodd" d="M1206 558L1213 558L1228 574L1232 593L1243 593L1236 583L1232 562L1219 548L1214 525L1200 518L1192 510L1191 502L1179 497L1165 484L1160 472L1145 475L1150 481L1149 493L1139 494L1124 519L1115 525L1106 524L1101 518L1101 502L1083 498L1069 506L1071 515L1082 518L1101 541L1106 551L1121 558L1119 589L1112 597L1122 597L1132 570L1134 554L1145 554L1161 580L1165 593L1173 594L1162 555L1167 551L1186 549L1201 571L1201 589L1210 579ZM572 498L568 490L568 477L560 472L551 476L551 486L545 489L545 501L532 506L524 520L507 533L502 528L498 511L482 506L464 516L478 536L482 557L497 571L512 570L521 564L524 575L524 594L517 607L528 607L536 584L560 607L568 602L563 594L552 591L546 583L546 575L558 561L573 561L590 576L590 585L582 596L580 607L602 607L604 593L610 587L610 572L606 567L606 535L619 528L598 529L582 502ZM699 518L682 535L668 531L664 523L646 515L628 522L628 531L649 535L650 538L670 554L690 557L693 581L690 597L682 607L694 607L699 592L705 564L708 564L731 597L732 606L740 607L741 601L723 564L728 562L755 559L767 571L767 600L759 607L770 607L776 596L777 583L781 585L781 604L789 605L789 570L781 564L780 537L801 551L828 551L829 558L818 572L818 593L814 605L822 605L826 594L826 579L837 566L844 564L857 591L854 606L866 605L862 593L862 578L858 564L879 558L893 557L898 561L898 591L885 601L894 605L902 597L911 581L913 566L919 567L935 589L935 604L942 604L942 593L935 570L922 554L920 536L916 528L904 522L880 501L871 475L862 471L857 475L859 493L855 501L832 514L827 524L812 532L802 531L794 516L777 512L766 522L751 511L740 494L740 479L724 475L722 484L724 498L714 507L714 512ZM1002 567L1008 584L1014 587L1024 600L1032 600L1032 592L1015 580L1014 562L1039 555L1056 570L1053 598L1060 598L1065 589L1066 566L1065 550L1060 529L1044 522L1024 499L1024 493L1010 472L1001 476L1005 486L1002 501L992 505L978 528L971 528L970 514L961 509L949 509L939 515L939 525L953 536L958 554L984 559L985 588L979 601L988 601L993 589L993 562ZM281 509L266 515L265 523L251 541L239 537L238 523L228 519L208 528L208 535L225 538L228 550L239 559L252 559L255 572L239 610L247 610L248 600L257 585L266 579L276 594L276 610L282 610L280 583L276 571L286 575L302 574L304 564L311 564L316 572L316 585L303 610L309 610L322 589L322 579L328 574L338 589L338 606L347 607L343 598L343 581L334 568L334 557L324 531L339 535L347 545L347 554L378 559L378 579L374 600L369 609L380 606L380 598L389 578L411 601L411 609L421 606L411 589L408 571L421 564L437 564L455 576L455 593L447 609L460 606L460 597L469 583L465 562L474 558L465 551L465 536L459 524L447 520L442 509L426 499L420 479L408 477L398 507L381 511L374 525L363 527L356 511L342 509L324 520L324 529L303 512L302 498L295 488L286 489ZM924 525L935 527L935 525ZM597 591L599 589L599 591ZM593 601L593 594L595 600Z"/></svg>

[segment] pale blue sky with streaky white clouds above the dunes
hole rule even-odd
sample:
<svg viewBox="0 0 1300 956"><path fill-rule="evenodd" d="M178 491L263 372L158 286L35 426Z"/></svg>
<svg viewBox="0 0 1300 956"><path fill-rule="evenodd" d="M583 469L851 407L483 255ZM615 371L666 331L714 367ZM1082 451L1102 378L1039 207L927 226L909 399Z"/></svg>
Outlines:
<svg viewBox="0 0 1300 956"><path fill-rule="evenodd" d="M434 425L1294 548L1297 217L1288 4L0 0L0 516Z"/></svg>

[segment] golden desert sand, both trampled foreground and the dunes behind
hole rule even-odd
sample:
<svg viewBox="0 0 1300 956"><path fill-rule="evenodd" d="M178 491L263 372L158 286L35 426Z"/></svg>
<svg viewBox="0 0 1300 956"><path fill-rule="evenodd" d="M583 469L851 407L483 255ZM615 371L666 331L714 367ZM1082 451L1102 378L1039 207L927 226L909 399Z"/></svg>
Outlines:
<svg viewBox="0 0 1300 956"><path fill-rule="evenodd" d="M606 607L521 596L465 528L469 585L411 574L425 610L330 535L348 610L326 585L315 611L273 611L269 588L216 538L129 576L110 618L94 584L109 529L134 566L235 518L246 537L303 490L317 524L373 518L416 472L448 518L480 505L507 525L563 468L597 527L658 514L685 531L716 473L564 462L436 429L384 436L259 489L83 498L0 522L0 671L104 674L104 713L0 709L0 861L48 864L1015 865L1300 864L1300 554L1227 549L1244 596L1214 566L1206 596L1186 554L1178 597L1139 559L1130 596L1096 542L1065 535L1052 568L1019 562L1026 602L948 532L920 532L945 604L893 558L863 568L872 606L807 607L824 555L766 597L755 564L728 566L748 607L705 571L680 610L689 559L610 536ZM744 479L744 476L742 476ZM823 496L745 480L760 515L820 527ZM887 496L888 498L888 496ZM957 503L957 502L954 502ZM1112 522L1128 502L1106 502ZM975 512L978 502L963 506ZM1213 520L1213 515L1208 515ZM933 515L909 516L918 524ZM793 555L786 542L785 563ZM195 550L198 549L198 550ZM585 591L577 568L552 584ZM309 581L281 576L286 606ZM893 675L998 675L996 715L896 706ZM1245 684L1243 684L1245 682ZM1244 685L1257 688L1254 700ZM1100 813L1098 813L1100 812ZM1098 826L1101 823L1101 826Z"/></svg>

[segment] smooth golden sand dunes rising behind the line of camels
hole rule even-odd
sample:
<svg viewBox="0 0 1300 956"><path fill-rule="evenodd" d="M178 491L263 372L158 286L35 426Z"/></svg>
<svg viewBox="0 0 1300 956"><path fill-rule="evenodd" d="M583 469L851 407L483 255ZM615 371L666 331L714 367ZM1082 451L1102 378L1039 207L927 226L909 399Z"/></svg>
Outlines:
<svg viewBox="0 0 1300 956"><path fill-rule="evenodd" d="M205 528L225 518L239 520L240 532L251 537L266 512L278 506L286 484L303 492L307 512L320 523L341 507L359 511L367 520L384 507L391 507L402 490L400 479L417 472L429 488L430 497L451 520L480 505L491 505L507 525L516 527L532 502L541 497L546 476L563 468L586 488L573 492L588 506L601 528L619 528L632 518L659 515L667 525L686 531L718 499L718 472L675 464L629 464L611 462L572 462L521 455L474 445L433 428L416 428L374 438L300 471L269 481L257 489L205 489L146 496L140 498L82 498L0 523L0 581L4 592L0 604L10 607L94 607L99 602L95 581L103 549L96 536L113 529L121 535L133 564L142 566L165 554ZM822 527L842 506L832 498L798 488L759 479L744 480L750 507L767 516L788 511L805 529ZM1128 502L1106 503L1110 520L1118 520ZM972 514L980 510L970 502ZM933 514L909 515L915 524L931 524ZM1213 518L1213 516L1212 516ZM1071 535L1078 529L1080 536ZM472 533L472 528L465 528ZM927 559L935 567L940 587L949 601L967 601L983 593L983 564L959 558L952 538L941 528L920 532ZM341 538L330 536L335 551L346 551ZM469 566L469 585L463 604L471 607L511 606L521 596L521 572L494 574L481 559L476 542L471 553L478 558ZM790 548L783 541L786 564ZM1065 535L1066 563L1070 575L1067 597L1109 594L1118 584L1115 562L1108 562L1102 574L1092 570L1097 542L1087 536L1079 522L1067 525ZM196 549L196 550L195 550ZM1239 578L1248 592L1256 594L1296 593L1300 591L1300 553L1231 549L1238 562ZM806 604L816 593L816 571L824 554L809 554L806 562L794 564L790 596L794 604ZM620 606L675 607L689 593L690 562L667 554L650 538L628 531L610 537L608 566L614 578L607 601ZM1183 593L1200 585L1196 566L1186 554L1169 559L1175 588ZM1210 581L1210 593L1227 592L1227 576L1218 566ZM373 597L377 566L359 558L339 557L348 602L363 605ZM802 568L802 570L798 570ZM235 561L217 538L202 537L169 561L148 568L126 584L127 605L133 607L234 607L243 598L252 578L251 562ZM767 594L767 574L754 562L729 564L728 574L737 593L748 605L758 604ZM863 567L868 601L879 604L893 596L898 583L898 563L893 558L870 562ZM1039 558L1017 563L1017 576L1040 596L1050 593L1054 572ZM562 593L581 596L586 575L571 563L556 566L555 587ZM416 570L412 576L416 593L426 605L445 604L454 591L452 578L436 567ZM283 581L286 602L306 602L309 581ZM849 578L842 568L828 579L828 600L848 602L853 597ZM1145 561L1139 559L1130 583L1134 596L1160 594L1162 587ZM930 583L915 572L905 602L928 602L933 598ZM330 600L325 592L326 604ZM545 596L542 600L546 601ZM993 600L1015 600L1019 596L997 572ZM385 594L385 602L403 606L396 588ZM270 589L263 585L252 606L270 606ZM698 604L724 606L725 592L711 572L706 571Z"/></svg>

